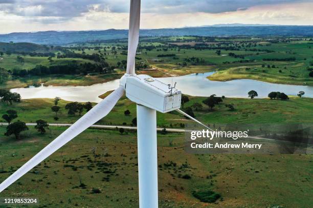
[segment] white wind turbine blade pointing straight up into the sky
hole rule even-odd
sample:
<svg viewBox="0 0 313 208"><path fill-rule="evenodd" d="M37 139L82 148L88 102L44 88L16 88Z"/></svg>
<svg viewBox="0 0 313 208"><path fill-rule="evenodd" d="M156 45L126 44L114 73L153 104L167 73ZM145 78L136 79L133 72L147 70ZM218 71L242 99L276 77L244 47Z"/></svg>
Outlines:
<svg viewBox="0 0 313 208"><path fill-rule="evenodd" d="M135 56L139 42L140 0L130 1L127 74L135 74Z"/></svg>

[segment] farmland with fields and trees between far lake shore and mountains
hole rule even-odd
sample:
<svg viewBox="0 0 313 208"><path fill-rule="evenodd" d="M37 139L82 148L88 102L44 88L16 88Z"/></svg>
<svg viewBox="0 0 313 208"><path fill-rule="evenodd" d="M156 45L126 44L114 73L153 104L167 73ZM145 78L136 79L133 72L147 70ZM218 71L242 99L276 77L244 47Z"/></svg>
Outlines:
<svg viewBox="0 0 313 208"><path fill-rule="evenodd" d="M312 43L308 37L141 38L136 68L139 74L155 77L216 71L209 77L210 80L254 79L311 86L313 82L309 73L313 67ZM20 48L19 43L11 44ZM54 54L49 57L38 57L42 48L34 47L33 44L30 47L34 49L33 52L2 51L0 67L11 75L7 82L0 84L1 87L25 87L38 83L92 85L116 79L125 73L127 42L124 39L57 46L47 49L47 53ZM31 53L37 54L34 56ZM76 70L62 74L31 71L37 65L55 68L73 63L77 67L89 63L99 69L76 67Z"/></svg>

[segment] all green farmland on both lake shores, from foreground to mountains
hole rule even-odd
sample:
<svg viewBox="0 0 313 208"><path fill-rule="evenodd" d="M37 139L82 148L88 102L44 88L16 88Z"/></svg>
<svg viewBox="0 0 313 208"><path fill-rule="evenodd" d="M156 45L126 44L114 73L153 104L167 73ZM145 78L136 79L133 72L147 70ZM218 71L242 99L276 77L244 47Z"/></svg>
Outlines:
<svg viewBox="0 0 313 208"><path fill-rule="evenodd" d="M127 40L90 41L47 46L0 43L1 90L46 85L93 85L125 73ZM311 37L240 36L142 37L136 73L154 77L216 71L208 79L253 79L270 83L313 86ZM252 89L248 89L252 90ZM5 91L4 91L5 92ZM101 94L103 92L99 92ZM276 93L276 92L275 92ZM101 97L105 97L109 92ZM216 89L218 94L218 89ZM311 123L313 98L279 96L251 99L188 97L183 111L207 125ZM210 95L208 95L210 96ZM213 97L213 98L212 98ZM212 95L214 99L214 95ZM215 96L216 98L216 96ZM34 98L0 102L0 116L16 111L12 122L74 123L81 115L65 109L72 101ZM78 103L76 103L78 104ZM81 103L84 106L85 103ZM96 103L92 103L93 106ZM128 113L126 113L128 110ZM97 124L136 126L136 103L123 96ZM0 117L0 122L6 122ZM190 154L183 133L190 119L170 112L157 114L160 207L311 207L310 154ZM0 181L3 181L67 127L49 126L41 134L27 131L5 136L0 125ZM138 207L137 133L130 129L88 128L0 194L38 198L39 207ZM287 130L286 130L287 131ZM195 192L220 196L201 202ZM199 194L198 194L199 195ZM1 205L0 205L1 207Z"/></svg>

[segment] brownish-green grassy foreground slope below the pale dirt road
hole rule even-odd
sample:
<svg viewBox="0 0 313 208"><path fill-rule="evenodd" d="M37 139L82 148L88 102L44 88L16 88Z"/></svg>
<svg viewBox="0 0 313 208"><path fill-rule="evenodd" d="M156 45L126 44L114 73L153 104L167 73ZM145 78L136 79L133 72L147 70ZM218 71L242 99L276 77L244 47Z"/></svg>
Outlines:
<svg viewBox="0 0 313 208"><path fill-rule="evenodd" d="M41 135L30 127L21 141L0 136L0 181L65 129L50 127ZM4 132L0 127L0 135ZM183 142L182 134L158 135L160 207L313 204L312 155L195 155L185 152ZM49 207L138 207L137 169L135 133L87 129L0 196L37 198L40 206ZM94 188L101 193L94 194ZM200 202L192 196L197 190L212 190L222 198L211 204Z"/></svg>

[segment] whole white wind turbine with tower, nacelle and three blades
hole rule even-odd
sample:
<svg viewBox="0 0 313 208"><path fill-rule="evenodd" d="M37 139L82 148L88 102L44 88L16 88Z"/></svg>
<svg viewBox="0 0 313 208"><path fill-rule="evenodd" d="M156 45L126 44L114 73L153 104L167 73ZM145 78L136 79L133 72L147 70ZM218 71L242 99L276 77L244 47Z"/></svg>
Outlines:
<svg viewBox="0 0 313 208"><path fill-rule="evenodd" d="M179 110L181 91L149 75L137 75L135 73L139 24L140 0L131 0L127 68L126 73L120 79L119 88L100 101L31 160L4 180L0 184L0 193L86 128L106 116L126 92L126 97L137 103L139 205L142 208L158 207L157 111L167 113L177 110L192 120L202 123Z"/></svg>

